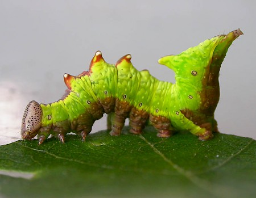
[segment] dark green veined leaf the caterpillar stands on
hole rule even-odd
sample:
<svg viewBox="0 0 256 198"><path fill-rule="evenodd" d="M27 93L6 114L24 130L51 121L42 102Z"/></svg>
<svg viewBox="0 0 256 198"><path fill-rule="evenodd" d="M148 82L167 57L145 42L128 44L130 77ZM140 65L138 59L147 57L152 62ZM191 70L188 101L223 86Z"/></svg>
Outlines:
<svg viewBox="0 0 256 198"><path fill-rule="evenodd" d="M215 134L156 137L107 131L85 142L68 135L0 146L0 190L5 197L256 197L256 141ZM32 173L30 179L3 175ZM26 174L24 174L26 175Z"/></svg>

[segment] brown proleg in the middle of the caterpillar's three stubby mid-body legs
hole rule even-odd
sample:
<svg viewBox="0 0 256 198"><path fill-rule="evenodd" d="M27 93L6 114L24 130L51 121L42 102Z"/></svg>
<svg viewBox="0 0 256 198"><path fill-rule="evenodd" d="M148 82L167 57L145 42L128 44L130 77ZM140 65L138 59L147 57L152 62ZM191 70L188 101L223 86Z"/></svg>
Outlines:
<svg viewBox="0 0 256 198"><path fill-rule="evenodd" d="M130 133L141 134L142 129L146 125L149 114L146 111L137 109L135 107L131 108L130 112Z"/></svg>

